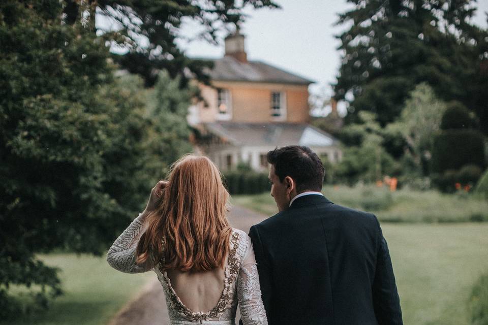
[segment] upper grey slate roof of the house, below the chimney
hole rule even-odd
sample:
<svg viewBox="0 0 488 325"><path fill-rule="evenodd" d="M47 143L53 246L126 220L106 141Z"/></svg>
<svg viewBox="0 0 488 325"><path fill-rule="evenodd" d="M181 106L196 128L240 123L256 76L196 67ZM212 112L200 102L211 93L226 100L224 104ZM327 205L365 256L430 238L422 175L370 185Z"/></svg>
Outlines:
<svg viewBox="0 0 488 325"><path fill-rule="evenodd" d="M214 62L214 68L206 70L212 80L218 81L248 81L309 85L314 83L283 69L276 68L261 61L240 62L232 56L219 59L209 59Z"/></svg>

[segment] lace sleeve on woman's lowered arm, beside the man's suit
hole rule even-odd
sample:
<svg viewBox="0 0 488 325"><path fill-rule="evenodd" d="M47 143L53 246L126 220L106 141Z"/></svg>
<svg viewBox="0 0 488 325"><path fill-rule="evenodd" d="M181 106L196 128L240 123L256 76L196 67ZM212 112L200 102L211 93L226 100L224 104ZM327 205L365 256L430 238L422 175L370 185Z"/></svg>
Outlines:
<svg viewBox="0 0 488 325"><path fill-rule="evenodd" d="M237 277L237 297L243 325L267 325L266 311L261 300L259 275L251 238Z"/></svg>

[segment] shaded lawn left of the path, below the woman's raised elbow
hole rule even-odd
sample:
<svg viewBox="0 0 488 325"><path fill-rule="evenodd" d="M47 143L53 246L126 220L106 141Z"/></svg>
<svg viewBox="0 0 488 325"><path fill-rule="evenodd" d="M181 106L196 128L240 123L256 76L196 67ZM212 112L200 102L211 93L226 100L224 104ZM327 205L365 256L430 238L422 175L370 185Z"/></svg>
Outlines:
<svg viewBox="0 0 488 325"><path fill-rule="evenodd" d="M2 325L105 325L154 272L126 274L112 269L105 256L47 254L39 257L59 273L65 295L32 317L0 322Z"/></svg>

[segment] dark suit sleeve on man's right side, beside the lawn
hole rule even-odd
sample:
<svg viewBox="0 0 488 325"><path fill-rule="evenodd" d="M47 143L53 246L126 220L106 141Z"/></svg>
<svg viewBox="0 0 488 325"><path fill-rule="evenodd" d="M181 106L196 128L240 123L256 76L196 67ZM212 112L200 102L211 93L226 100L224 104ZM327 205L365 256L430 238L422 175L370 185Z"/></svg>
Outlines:
<svg viewBox="0 0 488 325"><path fill-rule="evenodd" d="M403 324L402 310L400 308L400 297L396 289L390 253L376 216L375 219L378 224L376 272L373 282L375 314L380 325L400 325Z"/></svg>

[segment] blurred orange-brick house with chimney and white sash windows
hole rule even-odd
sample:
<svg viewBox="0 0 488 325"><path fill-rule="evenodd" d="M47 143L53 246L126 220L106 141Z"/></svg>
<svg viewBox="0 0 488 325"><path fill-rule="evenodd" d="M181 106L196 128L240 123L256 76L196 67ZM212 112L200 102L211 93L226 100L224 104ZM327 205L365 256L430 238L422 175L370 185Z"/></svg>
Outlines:
<svg viewBox="0 0 488 325"><path fill-rule="evenodd" d="M247 164L267 170L266 153L306 145L332 163L342 158L339 143L309 124L308 86L313 81L260 61L249 61L245 37L225 39L225 55L207 71L211 85L199 84L201 101L189 109L198 130L195 144L223 171Z"/></svg>

